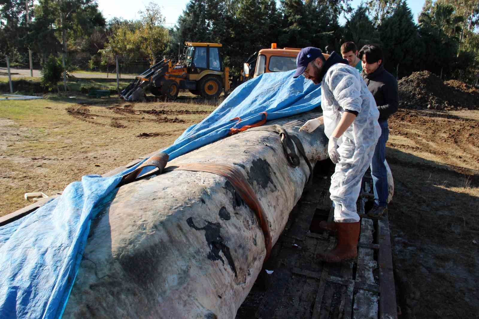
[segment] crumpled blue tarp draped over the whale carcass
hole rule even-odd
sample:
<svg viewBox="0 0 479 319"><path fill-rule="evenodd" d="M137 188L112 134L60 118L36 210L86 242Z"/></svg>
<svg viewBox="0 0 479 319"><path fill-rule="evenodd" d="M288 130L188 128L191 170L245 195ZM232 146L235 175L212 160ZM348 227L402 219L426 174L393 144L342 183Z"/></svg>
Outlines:
<svg viewBox="0 0 479 319"><path fill-rule="evenodd" d="M321 91L294 71L266 73L243 83L201 123L163 150L170 159L228 135L231 127L278 119L319 106ZM230 121L240 117L241 122ZM78 272L99 203L114 196L121 177L83 176L33 213L0 227L0 317L60 318ZM146 169L145 169L146 170ZM143 171L142 173L146 173Z"/></svg>

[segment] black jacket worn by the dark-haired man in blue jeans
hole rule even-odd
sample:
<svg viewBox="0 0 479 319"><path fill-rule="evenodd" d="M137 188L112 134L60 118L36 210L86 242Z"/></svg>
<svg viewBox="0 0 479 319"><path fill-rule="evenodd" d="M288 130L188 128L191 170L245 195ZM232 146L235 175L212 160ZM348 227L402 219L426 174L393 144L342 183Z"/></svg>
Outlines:
<svg viewBox="0 0 479 319"><path fill-rule="evenodd" d="M373 94L379 110L379 121L387 120L389 115L398 110L398 81L381 64L371 74L361 73L368 90Z"/></svg>

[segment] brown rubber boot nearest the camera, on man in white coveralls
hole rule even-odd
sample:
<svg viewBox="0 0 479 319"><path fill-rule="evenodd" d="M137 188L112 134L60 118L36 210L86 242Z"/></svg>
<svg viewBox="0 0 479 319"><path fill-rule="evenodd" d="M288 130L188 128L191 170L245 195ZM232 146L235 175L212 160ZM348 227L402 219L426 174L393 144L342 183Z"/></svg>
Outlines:
<svg viewBox="0 0 479 319"><path fill-rule="evenodd" d="M325 262L342 262L345 259L357 257L360 222L336 223L336 228L338 229L338 244L332 251L318 254L318 258Z"/></svg>

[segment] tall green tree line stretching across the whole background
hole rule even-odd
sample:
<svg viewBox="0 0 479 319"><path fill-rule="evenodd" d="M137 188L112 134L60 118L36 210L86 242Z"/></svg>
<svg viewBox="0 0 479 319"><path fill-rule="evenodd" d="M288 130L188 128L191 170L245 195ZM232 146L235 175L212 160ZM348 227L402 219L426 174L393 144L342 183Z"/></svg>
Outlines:
<svg viewBox="0 0 479 319"><path fill-rule="evenodd" d="M367 0L354 10L351 0L190 0L173 28L155 3L138 20L107 22L93 0L32 2L0 0L0 53L13 65L28 64L28 48L36 63L65 52L68 68L105 69L116 55L124 66L153 64L177 59L191 41L222 43L225 65L237 72L271 43L339 51L353 41L379 44L385 67L399 78L429 70L472 82L479 72L479 0L426 0L417 20L404 0Z"/></svg>

